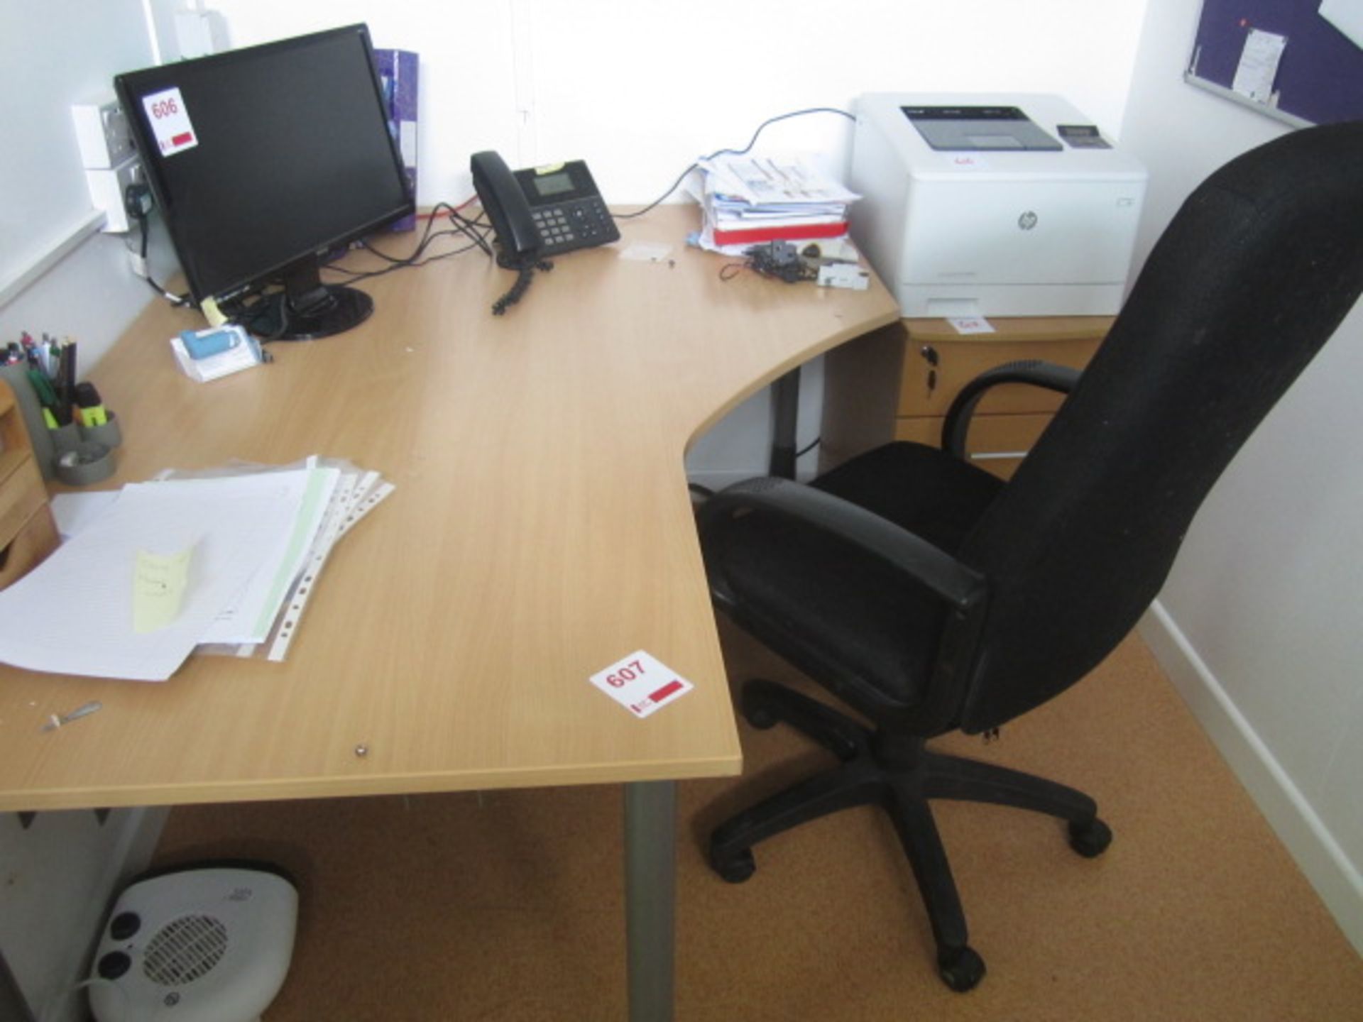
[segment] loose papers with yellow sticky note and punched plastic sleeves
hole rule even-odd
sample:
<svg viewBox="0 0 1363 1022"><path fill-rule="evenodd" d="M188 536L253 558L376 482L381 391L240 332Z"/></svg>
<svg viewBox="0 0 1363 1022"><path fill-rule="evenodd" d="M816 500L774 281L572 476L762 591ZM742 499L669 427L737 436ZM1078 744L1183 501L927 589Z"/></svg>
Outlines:
<svg viewBox="0 0 1363 1022"><path fill-rule="evenodd" d="M164 681L195 649L284 660L333 546L390 492L319 458L124 486L0 591L0 661Z"/></svg>

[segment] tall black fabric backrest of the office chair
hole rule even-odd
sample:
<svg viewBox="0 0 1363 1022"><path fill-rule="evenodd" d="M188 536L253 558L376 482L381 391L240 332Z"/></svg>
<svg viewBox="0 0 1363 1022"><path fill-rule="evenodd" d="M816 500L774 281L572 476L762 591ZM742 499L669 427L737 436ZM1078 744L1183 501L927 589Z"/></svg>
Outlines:
<svg viewBox="0 0 1363 1022"><path fill-rule="evenodd" d="M1363 289L1363 123L1307 128L1189 196L1112 331L958 556L990 579L977 732L1131 630L1227 463Z"/></svg>

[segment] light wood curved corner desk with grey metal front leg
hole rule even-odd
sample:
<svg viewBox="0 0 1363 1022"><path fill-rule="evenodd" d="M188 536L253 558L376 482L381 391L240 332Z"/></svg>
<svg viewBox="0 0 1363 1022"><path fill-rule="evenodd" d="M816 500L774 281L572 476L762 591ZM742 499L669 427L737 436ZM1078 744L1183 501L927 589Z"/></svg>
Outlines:
<svg viewBox="0 0 1363 1022"><path fill-rule="evenodd" d="M669 1018L673 782L741 770L684 452L898 318L879 282L724 282L728 260L684 245L696 219L622 221L500 318L512 277L480 253L378 278L361 327L209 384L168 346L202 320L149 308L91 373L123 424L110 488L323 454L397 491L337 548L284 664L194 657L165 684L0 668L0 809L622 782L630 1014ZM671 259L622 259L637 241ZM695 684L642 721L587 681L639 649Z"/></svg>

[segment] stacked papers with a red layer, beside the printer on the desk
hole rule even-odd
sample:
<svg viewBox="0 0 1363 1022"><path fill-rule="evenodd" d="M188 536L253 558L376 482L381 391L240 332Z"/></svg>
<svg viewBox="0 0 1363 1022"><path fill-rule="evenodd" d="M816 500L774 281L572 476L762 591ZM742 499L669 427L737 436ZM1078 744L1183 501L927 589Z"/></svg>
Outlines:
<svg viewBox="0 0 1363 1022"><path fill-rule="evenodd" d="M731 155L702 159L701 245L740 252L766 241L838 238L859 198L808 157Z"/></svg>

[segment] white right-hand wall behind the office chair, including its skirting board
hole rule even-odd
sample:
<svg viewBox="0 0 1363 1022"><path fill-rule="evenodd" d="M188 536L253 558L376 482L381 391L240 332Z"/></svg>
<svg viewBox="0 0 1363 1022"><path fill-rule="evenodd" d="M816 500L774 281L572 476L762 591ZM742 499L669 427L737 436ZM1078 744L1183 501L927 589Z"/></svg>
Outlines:
<svg viewBox="0 0 1363 1022"><path fill-rule="evenodd" d="M1141 40L1123 131L1150 170L1141 260L1206 174L1289 131L1180 80L1197 14L1150 0ZM1363 951L1359 379L1363 309L1212 491L1144 632Z"/></svg>

